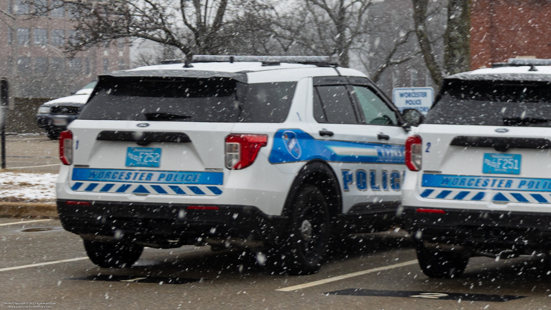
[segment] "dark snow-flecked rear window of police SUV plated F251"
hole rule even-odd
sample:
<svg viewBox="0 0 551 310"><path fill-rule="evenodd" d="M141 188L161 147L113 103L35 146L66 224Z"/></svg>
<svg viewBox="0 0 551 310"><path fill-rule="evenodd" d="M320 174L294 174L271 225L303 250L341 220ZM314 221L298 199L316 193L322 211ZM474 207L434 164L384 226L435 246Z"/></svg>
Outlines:
<svg viewBox="0 0 551 310"><path fill-rule="evenodd" d="M551 82L447 79L424 122L551 127Z"/></svg>

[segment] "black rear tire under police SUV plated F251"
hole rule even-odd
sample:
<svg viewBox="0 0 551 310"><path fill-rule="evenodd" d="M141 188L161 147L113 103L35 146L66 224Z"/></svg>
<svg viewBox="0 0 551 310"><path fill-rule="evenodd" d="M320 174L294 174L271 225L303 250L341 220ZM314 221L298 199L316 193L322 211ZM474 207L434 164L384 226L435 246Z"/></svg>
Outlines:
<svg viewBox="0 0 551 310"><path fill-rule="evenodd" d="M417 245L417 259L423 273L437 279L461 276L469 262L464 253L427 249L423 244Z"/></svg>

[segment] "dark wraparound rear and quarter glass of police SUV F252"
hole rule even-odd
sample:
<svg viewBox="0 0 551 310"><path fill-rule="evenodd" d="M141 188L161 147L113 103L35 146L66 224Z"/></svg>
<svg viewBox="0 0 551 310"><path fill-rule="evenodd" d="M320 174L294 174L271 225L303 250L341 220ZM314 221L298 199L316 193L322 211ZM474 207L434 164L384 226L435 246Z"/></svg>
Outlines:
<svg viewBox="0 0 551 310"><path fill-rule="evenodd" d="M111 78L79 119L283 122L296 82L245 84L230 78Z"/></svg>

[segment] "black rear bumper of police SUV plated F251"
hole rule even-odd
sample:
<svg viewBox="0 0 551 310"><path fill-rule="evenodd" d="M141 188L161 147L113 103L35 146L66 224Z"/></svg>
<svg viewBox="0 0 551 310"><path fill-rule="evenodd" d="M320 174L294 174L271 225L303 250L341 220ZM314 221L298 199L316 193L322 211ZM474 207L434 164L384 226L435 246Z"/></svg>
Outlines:
<svg viewBox="0 0 551 310"><path fill-rule="evenodd" d="M506 248L531 253L551 249L551 212L514 212L446 209L446 213L417 212L404 206L404 226L418 241L466 245L472 248Z"/></svg>

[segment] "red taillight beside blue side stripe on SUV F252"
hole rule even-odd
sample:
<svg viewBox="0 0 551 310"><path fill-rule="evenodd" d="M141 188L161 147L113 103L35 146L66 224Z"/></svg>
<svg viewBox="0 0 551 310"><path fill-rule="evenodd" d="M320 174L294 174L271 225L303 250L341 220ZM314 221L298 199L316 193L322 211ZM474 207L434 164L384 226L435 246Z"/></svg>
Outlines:
<svg viewBox="0 0 551 310"><path fill-rule="evenodd" d="M258 151L268 143L268 135L232 133L226 137L226 168L243 169L256 159Z"/></svg>

